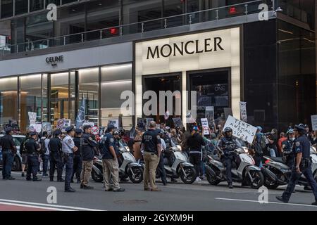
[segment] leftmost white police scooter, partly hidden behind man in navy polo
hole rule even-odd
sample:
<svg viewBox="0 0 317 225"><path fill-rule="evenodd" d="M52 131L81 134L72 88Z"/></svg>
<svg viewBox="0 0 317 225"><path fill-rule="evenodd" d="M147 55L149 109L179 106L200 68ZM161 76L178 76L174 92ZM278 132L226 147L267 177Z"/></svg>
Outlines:
<svg viewBox="0 0 317 225"><path fill-rule="evenodd" d="M130 153L130 149L122 141L119 141L119 157L122 163L119 168L120 179L129 177L130 181L139 184L143 181L143 168L142 165L137 163L135 157ZM119 159L120 160L120 159ZM94 157L94 165L92 166L92 179L96 182L102 182L103 177L102 157Z"/></svg>

